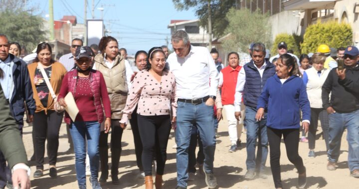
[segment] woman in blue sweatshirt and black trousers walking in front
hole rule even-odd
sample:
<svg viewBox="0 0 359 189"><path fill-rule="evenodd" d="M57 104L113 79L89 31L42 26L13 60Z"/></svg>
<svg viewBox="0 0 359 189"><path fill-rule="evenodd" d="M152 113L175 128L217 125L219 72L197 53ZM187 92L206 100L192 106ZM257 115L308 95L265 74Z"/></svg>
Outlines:
<svg viewBox="0 0 359 189"><path fill-rule="evenodd" d="M300 113L303 112L303 129L308 131L310 104L295 58L283 54L278 58L277 74L267 80L258 98L256 119L261 120L267 110L267 134L270 148L270 165L276 189L282 189L280 175L280 143L283 135L287 157L298 170L300 189L307 184L306 169L298 154Z"/></svg>

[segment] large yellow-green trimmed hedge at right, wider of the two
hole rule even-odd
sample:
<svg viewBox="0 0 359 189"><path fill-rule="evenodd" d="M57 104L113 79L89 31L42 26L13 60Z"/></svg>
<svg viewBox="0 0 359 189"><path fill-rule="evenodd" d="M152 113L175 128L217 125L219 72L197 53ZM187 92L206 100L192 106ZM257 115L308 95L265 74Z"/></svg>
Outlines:
<svg viewBox="0 0 359 189"><path fill-rule="evenodd" d="M317 52L321 44L329 47L347 47L353 43L352 27L348 23L318 21L307 27L304 33L302 53Z"/></svg>

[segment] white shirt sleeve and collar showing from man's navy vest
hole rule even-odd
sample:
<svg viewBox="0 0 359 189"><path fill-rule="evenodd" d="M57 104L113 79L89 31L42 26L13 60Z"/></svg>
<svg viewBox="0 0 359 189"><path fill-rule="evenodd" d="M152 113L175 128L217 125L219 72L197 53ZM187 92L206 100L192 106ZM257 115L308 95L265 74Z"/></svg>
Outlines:
<svg viewBox="0 0 359 189"><path fill-rule="evenodd" d="M261 78L263 77L263 73L264 73L266 65L267 64L265 61L264 61L263 66L261 66L260 68L258 68L257 66L254 65L257 68ZM234 94L234 109L235 109L235 111L241 111L240 104L242 102L245 78L246 78L245 71L244 71L244 69L241 69L238 74L236 92Z"/></svg>

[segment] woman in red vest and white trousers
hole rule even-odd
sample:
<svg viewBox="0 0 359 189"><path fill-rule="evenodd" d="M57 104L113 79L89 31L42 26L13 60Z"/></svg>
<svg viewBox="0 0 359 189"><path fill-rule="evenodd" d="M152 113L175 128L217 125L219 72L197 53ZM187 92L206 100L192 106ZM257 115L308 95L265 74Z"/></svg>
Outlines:
<svg viewBox="0 0 359 189"><path fill-rule="evenodd" d="M240 147L240 136L243 128L243 120L238 121L234 116L234 94L241 68L238 53L231 52L228 54L228 66L223 68L219 74L222 104L228 120L229 140L232 143L229 152L235 152ZM244 108L241 109L244 110Z"/></svg>

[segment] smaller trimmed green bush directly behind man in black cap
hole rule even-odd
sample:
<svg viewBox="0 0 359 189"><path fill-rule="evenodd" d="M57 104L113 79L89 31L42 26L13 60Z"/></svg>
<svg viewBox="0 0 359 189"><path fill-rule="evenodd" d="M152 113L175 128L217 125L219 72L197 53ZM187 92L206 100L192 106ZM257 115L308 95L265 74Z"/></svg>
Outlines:
<svg viewBox="0 0 359 189"><path fill-rule="evenodd" d="M299 56L300 55L300 36L295 34L288 34L288 33L280 33L276 35L276 38L273 42L273 47L271 50L272 55L277 54L277 44L284 41L287 43L288 50L292 49L294 54Z"/></svg>

